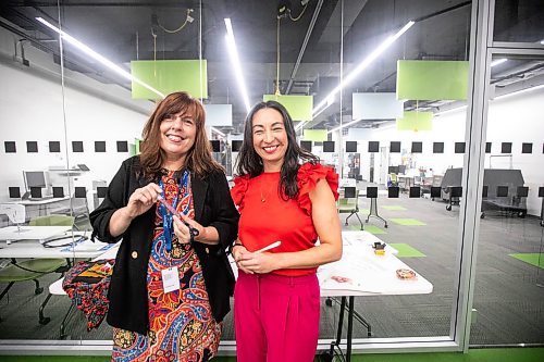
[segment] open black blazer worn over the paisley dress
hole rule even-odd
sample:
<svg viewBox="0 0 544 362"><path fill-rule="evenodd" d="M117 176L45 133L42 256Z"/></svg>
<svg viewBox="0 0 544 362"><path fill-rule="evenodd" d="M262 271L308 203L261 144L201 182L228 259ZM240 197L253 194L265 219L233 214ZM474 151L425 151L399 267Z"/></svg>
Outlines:
<svg viewBox="0 0 544 362"><path fill-rule="evenodd" d="M107 321L111 326L147 334L149 329L147 301L147 267L151 252L156 207L137 216L126 232L112 237L109 232L113 213L127 204L135 189L148 184L141 177L139 157L125 160L108 187L103 202L90 213L92 236L106 242L123 241L119 248L108 299ZM228 184L222 172L206 178L191 174L195 220L202 226L214 226L219 245L194 241L206 282L206 289L215 321L221 322L231 310L228 297L234 291L234 274L225 248L238 232L238 212L233 203Z"/></svg>

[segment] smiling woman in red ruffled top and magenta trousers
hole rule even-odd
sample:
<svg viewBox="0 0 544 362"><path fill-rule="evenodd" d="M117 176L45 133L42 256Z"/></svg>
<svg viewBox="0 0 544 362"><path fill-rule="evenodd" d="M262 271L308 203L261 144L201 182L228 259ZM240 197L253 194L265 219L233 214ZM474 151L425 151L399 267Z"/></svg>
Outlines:
<svg viewBox="0 0 544 362"><path fill-rule="evenodd" d="M237 161L242 176L231 190L240 213L232 248L239 270L237 361L313 361L320 311L316 270L342 255L338 175L297 145L293 120L274 101L249 112ZM259 251L275 241L281 245Z"/></svg>

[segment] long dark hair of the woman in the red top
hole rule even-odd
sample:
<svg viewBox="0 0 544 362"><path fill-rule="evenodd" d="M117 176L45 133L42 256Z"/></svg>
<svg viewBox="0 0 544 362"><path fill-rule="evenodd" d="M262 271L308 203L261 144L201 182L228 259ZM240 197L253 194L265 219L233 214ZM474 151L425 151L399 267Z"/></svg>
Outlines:
<svg viewBox="0 0 544 362"><path fill-rule="evenodd" d="M276 110L283 117L288 145L280 172L279 192L284 199L294 199L298 196L297 173L300 167L299 161L316 164L319 159L298 146L293 120L285 107L276 101L259 102L249 111L244 125L244 141L242 142L242 148L236 160L236 172L239 176L249 175L249 177L256 177L264 171L262 159L254 148L254 133L251 128L255 114L265 108Z"/></svg>

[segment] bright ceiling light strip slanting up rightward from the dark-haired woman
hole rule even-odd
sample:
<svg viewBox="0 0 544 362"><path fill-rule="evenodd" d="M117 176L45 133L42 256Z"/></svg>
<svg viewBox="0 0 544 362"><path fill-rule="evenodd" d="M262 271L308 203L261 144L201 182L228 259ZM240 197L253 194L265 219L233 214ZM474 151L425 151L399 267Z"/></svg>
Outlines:
<svg viewBox="0 0 544 362"><path fill-rule="evenodd" d="M405 26L400 28L396 34L387 37L373 52L370 53L362 62L357 65L355 70L351 71L344 79L341 80L341 84L334 88L329 96L326 96L312 111L312 114L317 116L321 112L323 112L330 104L332 104L331 99L336 96L345 86L350 84L359 74L362 73L378 57L380 57L387 48L391 47L395 40L397 40L403 34L405 34L416 22L409 21ZM318 113L319 112L319 113ZM298 124L297 130L300 129L306 122Z"/></svg>

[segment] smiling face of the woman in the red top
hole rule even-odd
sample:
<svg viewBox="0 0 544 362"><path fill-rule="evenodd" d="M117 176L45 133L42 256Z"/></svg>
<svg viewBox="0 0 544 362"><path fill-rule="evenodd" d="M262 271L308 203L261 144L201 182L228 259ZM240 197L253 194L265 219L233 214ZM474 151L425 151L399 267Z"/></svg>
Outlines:
<svg viewBox="0 0 544 362"><path fill-rule="evenodd" d="M252 117L251 133L264 172L281 171L289 143L282 114L272 108L259 110Z"/></svg>

